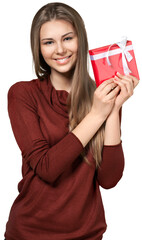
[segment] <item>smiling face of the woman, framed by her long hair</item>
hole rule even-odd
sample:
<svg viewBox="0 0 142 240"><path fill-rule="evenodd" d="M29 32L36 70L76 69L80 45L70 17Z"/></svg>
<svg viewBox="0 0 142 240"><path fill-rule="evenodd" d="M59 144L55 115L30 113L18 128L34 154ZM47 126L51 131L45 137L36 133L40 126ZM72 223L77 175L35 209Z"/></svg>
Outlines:
<svg viewBox="0 0 142 240"><path fill-rule="evenodd" d="M77 60L78 38L72 24L52 20L41 26L40 49L51 72L69 72Z"/></svg>

